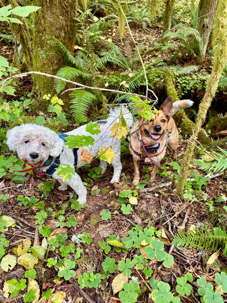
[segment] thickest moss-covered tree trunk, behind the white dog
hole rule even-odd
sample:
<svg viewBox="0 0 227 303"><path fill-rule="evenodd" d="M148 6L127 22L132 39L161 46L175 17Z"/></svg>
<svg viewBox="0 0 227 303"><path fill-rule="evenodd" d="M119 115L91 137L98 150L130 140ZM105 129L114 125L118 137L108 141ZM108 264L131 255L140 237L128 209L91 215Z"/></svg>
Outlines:
<svg viewBox="0 0 227 303"><path fill-rule="evenodd" d="M43 58L40 56L40 51L48 49L47 37L49 36L60 40L73 54L78 0L34 0L32 4L42 7L37 12L32 13L33 69L56 75L63 65L61 56L47 51L45 58ZM52 93L53 87L54 78L34 75L33 91L40 97ZM65 98L66 94L63 96Z"/></svg>

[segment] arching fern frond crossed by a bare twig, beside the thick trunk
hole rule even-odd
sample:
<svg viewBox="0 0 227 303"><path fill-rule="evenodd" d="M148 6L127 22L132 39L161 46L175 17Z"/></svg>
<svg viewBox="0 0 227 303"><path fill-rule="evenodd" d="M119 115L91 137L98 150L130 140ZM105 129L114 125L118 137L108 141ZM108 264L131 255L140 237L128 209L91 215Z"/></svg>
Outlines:
<svg viewBox="0 0 227 303"><path fill-rule="evenodd" d="M58 77L65 78L66 80L71 80L72 78L91 78L91 75L85 72L82 72L74 67L62 67L57 72ZM54 88L57 93L61 92L65 88L66 82L60 79L54 80Z"/></svg>

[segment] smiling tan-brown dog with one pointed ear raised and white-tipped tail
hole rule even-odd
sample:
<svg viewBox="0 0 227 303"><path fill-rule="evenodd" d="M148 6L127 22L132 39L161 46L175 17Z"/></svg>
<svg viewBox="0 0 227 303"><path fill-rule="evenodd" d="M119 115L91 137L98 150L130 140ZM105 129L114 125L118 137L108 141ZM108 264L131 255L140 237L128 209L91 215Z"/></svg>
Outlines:
<svg viewBox="0 0 227 303"><path fill-rule="evenodd" d="M133 157L135 176L133 185L139 183L139 165L140 161L145 163L152 163L145 153L142 142L139 140L138 135L145 143L145 145L159 143L159 148L154 151L148 151L149 156L158 165L165 156L166 146L169 145L173 150L173 159L177 158L178 147L178 130L172 116L182 108L192 106L194 102L191 100L181 100L173 103L172 96L169 96L162 104L159 110L158 117L151 122L145 122L143 118L132 128L131 141L129 150ZM155 113L155 112L153 112ZM142 126L141 126L142 125ZM151 182L154 182L157 171L157 166L153 165L150 175Z"/></svg>

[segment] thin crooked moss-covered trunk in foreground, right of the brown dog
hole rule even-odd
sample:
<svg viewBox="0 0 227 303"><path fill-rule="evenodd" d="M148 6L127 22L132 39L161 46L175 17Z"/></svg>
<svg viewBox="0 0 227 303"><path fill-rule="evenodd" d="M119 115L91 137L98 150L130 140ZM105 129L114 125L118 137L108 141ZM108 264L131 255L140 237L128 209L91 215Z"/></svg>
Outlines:
<svg viewBox="0 0 227 303"><path fill-rule="evenodd" d="M207 81L207 88L205 96L199 105L199 111L194 129L194 137L191 138L192 142L198 136L202 123L205 121L208 108L211 105L212 99L218 88L218 82L221 72L227 63L227 1L219 0L217 11L214 18L213 26L213 68L211 75ZM189 165L192 160L194 145L189 144L180 168L180 176L177 182L177 193L182 198L185 181L189 175Z"/></svg>

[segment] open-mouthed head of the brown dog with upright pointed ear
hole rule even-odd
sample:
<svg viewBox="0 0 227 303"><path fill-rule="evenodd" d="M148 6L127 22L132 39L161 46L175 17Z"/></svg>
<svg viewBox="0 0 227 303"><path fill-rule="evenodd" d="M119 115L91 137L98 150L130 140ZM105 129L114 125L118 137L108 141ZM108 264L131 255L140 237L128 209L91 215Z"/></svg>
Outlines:
<svg viewBox="0 0 227 303"><path fill-rule="evenodd" d="M168 121L172 117L173 98L169 96L162 104L158 117L142 125L140 135L145 142L160 142L167 131ZM155 112L153 112L155 114ZM142 119L141 119L142 120ZM142 121L140 123L143 123Z"/></svg>

